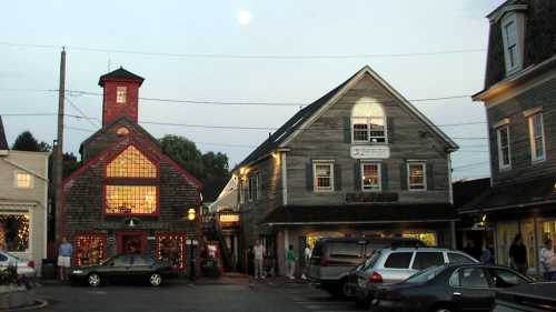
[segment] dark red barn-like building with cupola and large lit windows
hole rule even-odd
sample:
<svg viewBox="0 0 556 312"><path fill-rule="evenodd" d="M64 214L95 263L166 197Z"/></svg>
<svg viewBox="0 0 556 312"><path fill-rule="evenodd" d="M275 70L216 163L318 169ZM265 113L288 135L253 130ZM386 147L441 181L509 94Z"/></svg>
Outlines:
<svg viewBox="0 0 556 312"><path fill-rule="evenodd" d="M187 214L198 212L200 183L138 124L142 82L122 68L100 77L102 128L82 142L82 165L63 181L61 227L77 266L143 253L183 270L189 243L199 241L199 219Z"/></svg>

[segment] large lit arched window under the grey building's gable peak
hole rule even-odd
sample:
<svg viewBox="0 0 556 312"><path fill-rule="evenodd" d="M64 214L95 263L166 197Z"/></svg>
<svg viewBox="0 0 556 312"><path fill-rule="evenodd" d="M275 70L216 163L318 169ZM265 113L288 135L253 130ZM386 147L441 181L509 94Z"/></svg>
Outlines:
<svg viewBox="0 0 556 312"><path fill-rule="evenodd" d="M351 137L354 142L386 143L386 117L383 105L364 98L351 110Z"/></svg>

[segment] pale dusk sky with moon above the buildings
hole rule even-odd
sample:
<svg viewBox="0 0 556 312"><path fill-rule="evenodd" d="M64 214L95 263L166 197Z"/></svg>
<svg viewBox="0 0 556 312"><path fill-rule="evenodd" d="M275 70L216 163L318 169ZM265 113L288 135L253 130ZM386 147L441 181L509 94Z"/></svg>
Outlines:
<svg viewBox="0 0 556 312"><path fill-rule="evenodd" d="M146 78L140 89L140 97L145 98L306 104L368 64L410 100L470 95L480 91L484 83L488 40L485 16L502 2L9 1L2 3L0 12L0 114L10 144L24 130L52 142L56 117L9 114L57 112L57 93L37 90L58 89L62 46L68 47L70 90L101 92L98 78L122 66ZM455 50L474 51L430 53ZM391 56L404 53L419 54ZM101 117L100 97L75 93L68 99L68 114ZM469 97L414 103L460 145L453 154L454 179L489 175L481 103ZM297 110L298 105L140 101L139 121L278 128ZM64 123L64 150L76 154L79 144L99 129L96 120L67 117ZM454 123L475 124L444 125ZM142 125L157 138L185 135L198 142L202 152L225 152L230 167L267 139L269 132Z"/></svg>

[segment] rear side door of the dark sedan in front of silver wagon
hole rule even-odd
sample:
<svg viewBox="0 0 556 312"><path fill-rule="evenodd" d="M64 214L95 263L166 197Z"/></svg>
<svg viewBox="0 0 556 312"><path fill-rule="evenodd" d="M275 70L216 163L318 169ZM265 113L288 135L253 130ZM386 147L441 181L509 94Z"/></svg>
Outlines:
<svg viewBox="0 0 556 312"><path fill-rule="evenodd" d="M449 280L451 301L461 311L488 311L494 302L495 291L488 275L480 266L456 270Z"/></svg>

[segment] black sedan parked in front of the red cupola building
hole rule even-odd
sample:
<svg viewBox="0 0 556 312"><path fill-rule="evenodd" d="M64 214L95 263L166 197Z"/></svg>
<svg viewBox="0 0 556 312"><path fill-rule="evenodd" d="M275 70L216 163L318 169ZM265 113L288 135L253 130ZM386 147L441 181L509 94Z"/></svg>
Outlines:
<svg viewBox="0 0 556 312"><path fill-rule="evenodd" d="M108 259L99 265L77 268L71 271L70 280L75 283L87 283L98 286L105 282L149 282L159 286L162 282L175 276L172 266L160 262L152 256L141 254L119 254Z"/></svg>

